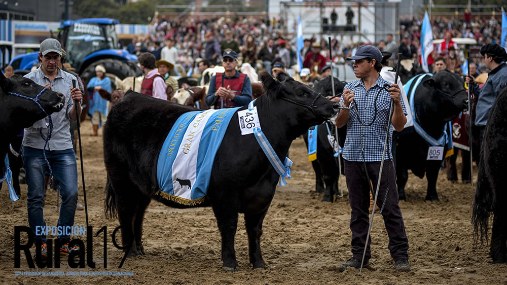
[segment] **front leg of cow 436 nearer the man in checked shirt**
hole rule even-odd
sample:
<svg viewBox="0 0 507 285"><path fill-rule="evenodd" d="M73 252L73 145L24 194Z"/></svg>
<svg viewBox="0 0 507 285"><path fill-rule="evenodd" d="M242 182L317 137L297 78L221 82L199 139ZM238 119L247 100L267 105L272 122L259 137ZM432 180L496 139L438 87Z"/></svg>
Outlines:
<svg viewBox="0 0 507 285"><path fill-rule="evenodd" d="M248 234L248 254L253 269L266 266L261 253L262 223L268 209L257 213L245 213L246 233Z"/></svg>

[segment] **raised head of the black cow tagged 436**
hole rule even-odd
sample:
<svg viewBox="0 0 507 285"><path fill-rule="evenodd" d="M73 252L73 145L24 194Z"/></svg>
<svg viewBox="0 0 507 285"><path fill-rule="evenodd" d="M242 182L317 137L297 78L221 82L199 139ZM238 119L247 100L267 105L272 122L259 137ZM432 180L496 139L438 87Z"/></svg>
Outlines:
<svg viewBox="0 0 507 285"><path fill-rule="evenodd" d="M338 103L285 73L278 74L275 79L267 72L262 72L260 78L267 97L277 101L279 108L286 109L283 111L294 120L295 125L301 126L303 132L338 112Z"/></svg>

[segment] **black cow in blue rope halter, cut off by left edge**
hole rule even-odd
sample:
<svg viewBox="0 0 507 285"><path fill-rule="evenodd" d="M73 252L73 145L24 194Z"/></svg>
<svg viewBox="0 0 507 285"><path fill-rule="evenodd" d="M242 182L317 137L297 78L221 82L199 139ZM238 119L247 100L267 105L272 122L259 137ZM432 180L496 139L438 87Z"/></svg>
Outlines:
<svg viewBox="0 0 507 285"><path fill-rule="evenodd" d="M9 197L19 199L12 184L12 172L7 157L9 145L23 130L38 120L59 112L63 108L64 96L51 91L32 80L13 76L6 78L0 72L0 189L7 181Z"/></svg>

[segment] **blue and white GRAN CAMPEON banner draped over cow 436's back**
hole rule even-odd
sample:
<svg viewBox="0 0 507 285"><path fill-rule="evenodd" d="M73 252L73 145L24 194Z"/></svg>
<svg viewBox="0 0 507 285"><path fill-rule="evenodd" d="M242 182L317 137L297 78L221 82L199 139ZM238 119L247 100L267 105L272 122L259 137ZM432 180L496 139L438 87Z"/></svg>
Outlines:
<svg viewBox="0 0 507 285"><path fill-rule="evenodd" d="M179 116L159 153L157 195L184 205L204 201L216 151L238 109L193 111Z"/></svg>

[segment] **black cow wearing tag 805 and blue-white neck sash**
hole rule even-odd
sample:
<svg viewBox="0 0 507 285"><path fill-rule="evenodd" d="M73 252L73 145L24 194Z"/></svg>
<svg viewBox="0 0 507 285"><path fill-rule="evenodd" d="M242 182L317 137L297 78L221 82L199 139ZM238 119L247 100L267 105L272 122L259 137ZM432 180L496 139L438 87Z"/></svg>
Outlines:
<svg viewBox="0 0 507 285"><path fill-rule="evenodd" d="M449 121L468 108L461 77L445 69L418 75L404 85L414 126L399 133L395 148L396 184L400 200L406 200L408 170L422 179L426 174L426 200L439 201L437 178L442 161L452 150Z"/></svg>

